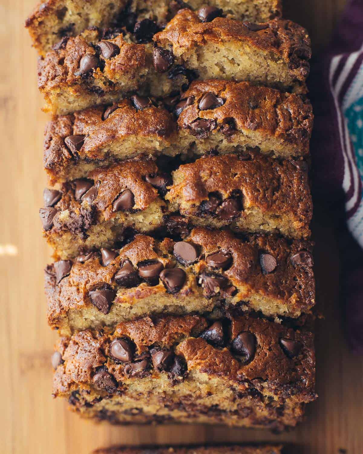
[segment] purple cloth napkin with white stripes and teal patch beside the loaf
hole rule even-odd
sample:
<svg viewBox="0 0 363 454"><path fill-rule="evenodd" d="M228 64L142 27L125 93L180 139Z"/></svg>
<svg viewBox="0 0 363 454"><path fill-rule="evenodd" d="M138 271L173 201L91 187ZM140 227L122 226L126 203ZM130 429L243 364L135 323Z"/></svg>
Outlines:
<svg viewBox="0 0 363 454"><path fill-rule="evenodd" d="M363 0L351 0L332 43L313 62L314 195L339 222L341 304L353 351L363 353Z"/></svg>

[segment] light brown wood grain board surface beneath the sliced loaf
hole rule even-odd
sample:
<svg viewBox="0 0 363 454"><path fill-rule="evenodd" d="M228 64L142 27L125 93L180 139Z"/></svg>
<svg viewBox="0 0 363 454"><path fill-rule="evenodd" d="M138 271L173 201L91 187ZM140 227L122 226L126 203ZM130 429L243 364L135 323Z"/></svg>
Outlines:
<svg viewBox="0 0 363 454"><path fill-rule="evenodd" d="M343 0L286 1L286 16L311 32L314 50L329 41ZM315 207L317 391L304 423L289 433L208 426L95 425L53 400L49 356L56 334L46 324L42 269L49 250L38 209L44 123L36 87L36 54L24 30L34 0L0 1L0 452L88 454L108 444L283 441L291 453L363 453L363 360L348 351L338 306L338 235L329 213Z"/></svg>

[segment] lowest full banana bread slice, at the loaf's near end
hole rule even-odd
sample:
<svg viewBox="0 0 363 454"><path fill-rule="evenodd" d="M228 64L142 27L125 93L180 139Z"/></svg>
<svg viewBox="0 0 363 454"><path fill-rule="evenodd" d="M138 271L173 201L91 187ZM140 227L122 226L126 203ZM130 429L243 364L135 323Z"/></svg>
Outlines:
<svg viewBox="0 0 363 454"><path fill-rule="evenodd" d="M149 317L81 331L52 357L53 395L111 423L281 430L315 399L313 335L245 316Z"/></svg>

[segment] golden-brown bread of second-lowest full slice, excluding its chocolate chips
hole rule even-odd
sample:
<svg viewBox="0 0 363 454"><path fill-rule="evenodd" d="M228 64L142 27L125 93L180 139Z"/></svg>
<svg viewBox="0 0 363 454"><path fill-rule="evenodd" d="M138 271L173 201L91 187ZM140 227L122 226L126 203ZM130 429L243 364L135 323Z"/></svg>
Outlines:
<svg viewBox="0 0 363 454"><path fill-rule="evenodd" d="M83 329L98 325L114 326L121 320L129 320L140 306L140 316L168 311L170 313L204 312L219 307L224 301L226 307L245 305L245 309L263 311L266 315L285 315L299 317L314 306L314 273L309 266L300 266L291 261L299 251L311 254L312 244L303 241L289 243L284 238L274 236L254 236L245 239L236 238L228 231L211 231L206 228L192 230L187 242L196 245L199 258L194 264L177 262L173 254L174 242L165 238L162 242L152 237L137 235L134 241L116 250L118 256L107 266L103 266L100 256L93 255L84 263L74 260L69 276L58 283L54 265L45 272L45 291L48 299L48 321L60 333L77 331L77 319L72 314L90 316ZM225 251L231 254L231 263L223 271L211 267L206 257L214 252ZM261 253L267 253L276 260L273 272L265 274L261 268ZM135 270L146 261L158 261L165 268L178 266L186 273L184 285L177 292L167 292L162 281L135 281L129 288L124 288L115 281L115 275L121 264L129 260ZM224 288L210 292L198 285L203 283L204 275L221 276L226 279ZM156 284L156 285L155 285ZM113 289L108 316L95 310L89 292L98 288ZM235 289L231 292L228 289ZM151 309L147 301L159 301L159 306ZM204 301L204 302L203 302ZM124 313L122 312L124 308ZM88 323L88 325L87 325Z"/></svg>

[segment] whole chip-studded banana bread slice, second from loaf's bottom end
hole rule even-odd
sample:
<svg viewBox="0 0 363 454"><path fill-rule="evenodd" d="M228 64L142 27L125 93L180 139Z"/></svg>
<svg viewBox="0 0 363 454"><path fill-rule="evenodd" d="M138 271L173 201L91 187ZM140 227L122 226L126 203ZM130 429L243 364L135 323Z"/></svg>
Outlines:
<svg viewBox="0 0 363 454"><path fill-rule="evenodd" d="M315 302L312 244L195 228L184 241L137 235L49 265L49 325L61 335L162 313L228 307L299 317Z"/></svg>

